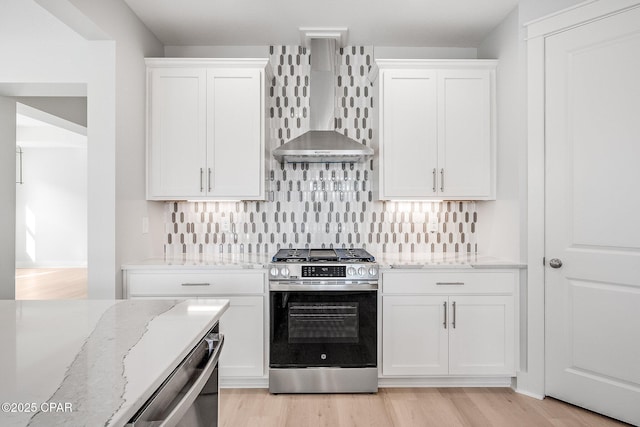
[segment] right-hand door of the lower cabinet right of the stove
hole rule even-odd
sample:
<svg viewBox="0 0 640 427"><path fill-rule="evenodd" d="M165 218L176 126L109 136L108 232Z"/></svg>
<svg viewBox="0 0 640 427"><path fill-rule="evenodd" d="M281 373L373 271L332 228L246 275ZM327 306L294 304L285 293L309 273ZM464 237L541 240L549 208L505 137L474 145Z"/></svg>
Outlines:
<svg viewBox="0 0 640 427"><path fill-rule="evenodd" d="M451 296L449 307L449 373L515 375L513 297Z"/></svg>

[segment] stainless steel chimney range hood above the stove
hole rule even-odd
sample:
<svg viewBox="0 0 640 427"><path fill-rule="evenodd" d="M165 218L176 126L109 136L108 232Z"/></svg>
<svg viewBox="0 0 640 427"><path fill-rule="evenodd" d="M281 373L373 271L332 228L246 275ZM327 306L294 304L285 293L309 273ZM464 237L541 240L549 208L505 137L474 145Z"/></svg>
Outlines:
<svg viewBox="0 0 640 427"><path fill-rule="evenodd" d="M273 150L281 163L357 163L373 150L334 130L335 40L311 39L311 130Z"/></svg>

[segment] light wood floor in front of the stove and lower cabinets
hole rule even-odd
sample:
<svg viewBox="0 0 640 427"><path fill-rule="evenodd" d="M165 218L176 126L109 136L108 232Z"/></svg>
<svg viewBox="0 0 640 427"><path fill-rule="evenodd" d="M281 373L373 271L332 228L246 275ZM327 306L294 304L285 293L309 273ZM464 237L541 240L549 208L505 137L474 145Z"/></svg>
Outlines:
<svg viewBox="0 0 640 427"><path fill-rule="evenodd" d="M508 388L381 388L377 394L271 395L222 389L223 427L625 426L590 411Z"/></svg>

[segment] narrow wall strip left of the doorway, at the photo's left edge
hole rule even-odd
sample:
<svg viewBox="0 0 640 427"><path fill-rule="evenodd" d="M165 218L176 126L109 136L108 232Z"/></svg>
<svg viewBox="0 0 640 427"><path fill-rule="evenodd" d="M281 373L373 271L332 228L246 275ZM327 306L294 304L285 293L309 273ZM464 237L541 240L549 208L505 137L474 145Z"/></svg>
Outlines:
<svg viewBox="0 0 640 427"><path fill-rule="evenodd" d="M1 68L1 67L0 67ZM0 299L15 299L16 103L0 96Z"/></svg>

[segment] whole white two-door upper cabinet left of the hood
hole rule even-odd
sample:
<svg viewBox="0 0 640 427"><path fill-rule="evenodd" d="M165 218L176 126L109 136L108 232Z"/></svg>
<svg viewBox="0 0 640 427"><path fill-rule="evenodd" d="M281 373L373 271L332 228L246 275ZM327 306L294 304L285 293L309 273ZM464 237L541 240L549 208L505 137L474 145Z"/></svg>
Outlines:
<svg viewBox="0 0 640 427"><path fill-rule="evenodd" d="M147 59L147 199L264 199L266 65Z"/></svg>

